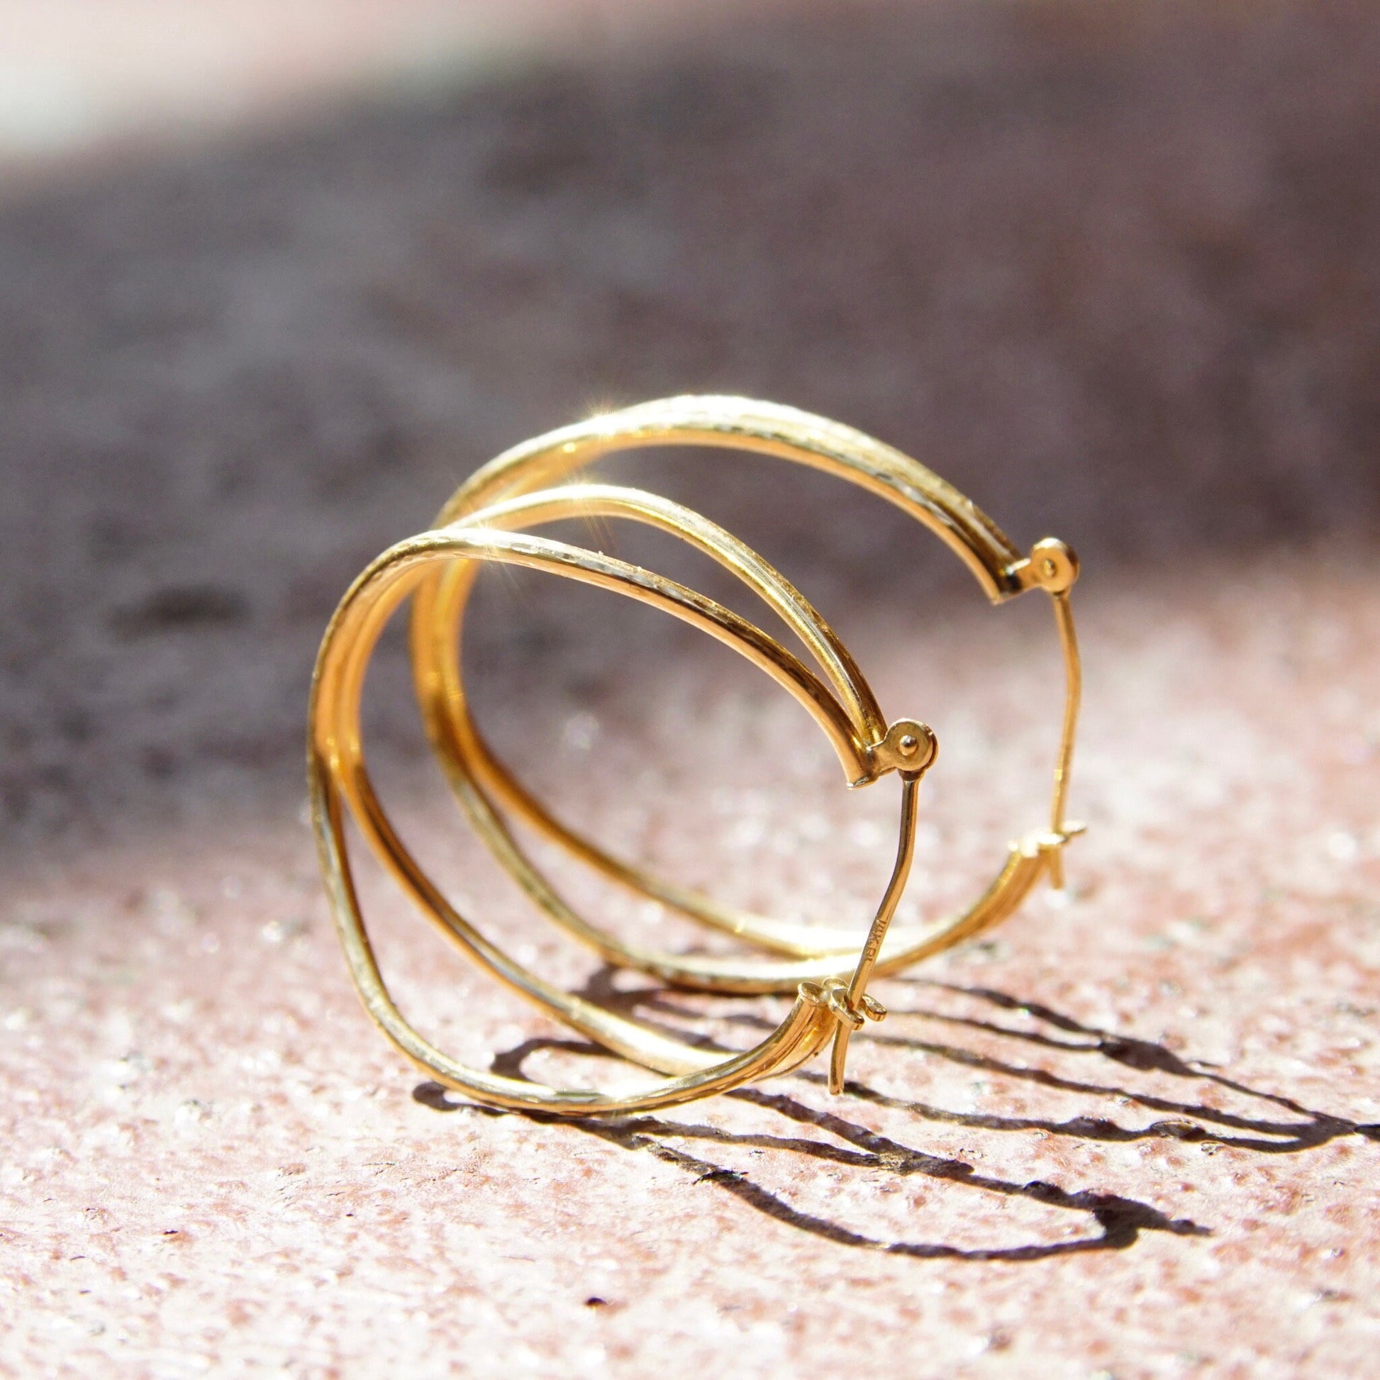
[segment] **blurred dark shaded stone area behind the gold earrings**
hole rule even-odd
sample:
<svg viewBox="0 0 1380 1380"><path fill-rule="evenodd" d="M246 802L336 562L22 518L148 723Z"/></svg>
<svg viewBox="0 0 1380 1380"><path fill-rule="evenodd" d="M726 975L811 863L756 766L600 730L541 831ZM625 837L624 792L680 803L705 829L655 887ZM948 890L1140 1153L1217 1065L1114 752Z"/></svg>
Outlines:
<svg viewBox="0 0 1380 1380"><path fill-rule="evenodd" d="M11 840L299 792L355 571L592 406L822 411L1104 571L1374 560L1374 6L610 25L4 177ZM845 591L930 574L901 519L773 475L678 493L807 589L802 560Z"/></svg>

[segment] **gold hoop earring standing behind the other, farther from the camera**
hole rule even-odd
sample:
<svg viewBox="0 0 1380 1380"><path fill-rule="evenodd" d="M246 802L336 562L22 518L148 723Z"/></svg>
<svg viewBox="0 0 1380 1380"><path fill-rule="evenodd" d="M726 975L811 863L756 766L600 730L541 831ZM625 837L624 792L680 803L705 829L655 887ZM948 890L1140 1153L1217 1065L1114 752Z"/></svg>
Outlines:
<svg viewBox="0 0 1380 1380"><path fill-rule="evenodd" d="M966 909L927 925L893 926L878 972L900 972L1000 923L1023 904L1042 875L1061 887L1063 847L1079 832L1078 825L1065 822L1065 800L1082 693L1078 640L1068 602L1068 592L1078 578L1078 562L1063 542L1047 538L1038 542L1028 558L1021 556L985 513L901 451L822 417L741 397L673 397L642 403L524 442L462 484L442 509L436 526L472 515L480 506L483 520L490 526L540 524L562 515L570 516L574 505L584 518L631 519L669 531L718 560L760 595L755 574L765 563L723 529L638 490L567 483L570 476L614 451L673 444L742 450L824 469L887 498L936 531L959 552L995 603L1032 588L1050 595L1065 683L1049 827L1029 831L1013 842L992 883ZM546 487L556 484L562 487ZM566 495L564 501L553 504L552 494ZM480 836L489 838L487 821L506 813L625 889L687 919L785 956L724 960L647 954L586 922L577 919L571 923L570 908L559 898L552 900L549 880L523 856L519 861L523 885L549 918L610 963L642 969L665 981L704 991L789 992L800 981L840 976L857 952L856 929L798 925L752 915L667 882L599 849L556 818L523 787L489 747L469 713L464 687L462 627L476 574L473 566L454 566L429 575L418 588L411 625L413 675L426 733L472 827ZM770 598L767 602L771 602ZM777 607L776 611L807 642L787 610ZM842 644L831 650L851 667ZM811 647L811 651L818 660L820 650ZM829 671L824 661L821 667ZM835 676L834 683L840 689L840 678ZM865 705L854 704L854 709L876 731L880 711L875 700ZM850 784L865 785L869 780L864 774L850 780ZM509 867L506 861L504 865Z"/></svg>

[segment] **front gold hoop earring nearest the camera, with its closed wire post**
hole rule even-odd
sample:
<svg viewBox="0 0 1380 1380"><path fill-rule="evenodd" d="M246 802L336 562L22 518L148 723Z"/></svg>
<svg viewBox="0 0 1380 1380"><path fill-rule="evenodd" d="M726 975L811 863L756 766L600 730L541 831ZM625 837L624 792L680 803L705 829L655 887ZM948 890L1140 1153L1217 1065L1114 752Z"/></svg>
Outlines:
<svg viewBox="0 0 1380 1380"><path fill-rule="evenodd" d="M553 502L559 498L559 494L552 495ZM923 723L900 719L880 740L867 741L856 731L839 700L818 676L774 639L715 600L676 581L598 552L526 533L489 529L482 524L483 512L475 516L480 520L479 526L457 524L426 533L393 546L375 560L346 593L327 628L317 657L309 709L308 774L312 813L337 929L367 1010L393 1043L435 1078L480 1101L504 1107L530 1107L571 1115L664 1107L784 1072L809 1058L831 1038L836 1047L836 1082L842 1087L847 1035L862 1018L876 1018L880 1013L864 989L909 874L915 849L916 791L920 777L934 759L933 734ZM428 567L455 560L501 562L546 570L662 609L724 642L784 686L831 737L854 773L874 777L889 770L900 773L903 791L897 858L874 918L872 934L858 958L853 984L802 983L787 1018L755 1049L741 1054L705 1050L551 985L487 940L446 900L399 838L374 791L364 759L359 712L364 673L384 625L407 596L415 592ZM763 570L770 573L765 563ZM765 574L767 585L771 584L771 574L774 573ZM780 577L776 578L778 588L773 593L782 606L789 606L793 592ZM799 615L809 618L813 610L803 600L800 606ZM821 644L828 644L832 639L822 621L816 636ZM858 702L867 702L871 697L861 678L854 691L853 698ZM472 962L606 1049L647 1068L679 1076L647 1092L629 1094L552 1089L468 1068L435 1049L397 1009L374 958L349 861L346 811L410 900ZM498 842L501 858L505 851L511 853L512 869L524 880L516 843L501 820L495 817L489 825L489 842ZM578 923L578 918L574 922Z"/></svg>

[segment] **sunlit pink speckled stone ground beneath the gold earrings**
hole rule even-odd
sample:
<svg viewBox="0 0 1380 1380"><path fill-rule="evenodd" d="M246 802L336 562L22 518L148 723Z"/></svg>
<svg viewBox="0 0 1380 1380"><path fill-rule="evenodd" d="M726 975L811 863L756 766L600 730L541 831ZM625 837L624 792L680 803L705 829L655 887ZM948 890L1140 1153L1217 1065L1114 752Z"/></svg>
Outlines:
<svg viewBox="0 0 1380 1380"><path fill-rule="evenodd" d="M451 1105L359 1009L288 807L12 865L6 1373L1361 1374L1380 596L1321 558L1085 593L1072 898L879 984L891 1016L856 1042L851 1096L811 1070L617 1123ZM1053 727L1017 673L1046 629L989 682L965 649L1007 614L963 607L909 646L865 609L846 624L889 711L923 709L952 748L918 905L1034 822ZM845 792L803 715L726 660L690 640L633 665L564 747L559 718L545 748L523 715L487 722L602 838L724 894L864 914L894 799ZM745 760L798 740L789 773L770 748ZM639 741L650 765L620 785ZM479 868L439 788L395 777L484 923L592 973ZM436 1038L513 1067L559 1034L367 890ZM740 1042L774 1009L635 1005ZM589 1076L562 1057L526 1067Z"/></svg>

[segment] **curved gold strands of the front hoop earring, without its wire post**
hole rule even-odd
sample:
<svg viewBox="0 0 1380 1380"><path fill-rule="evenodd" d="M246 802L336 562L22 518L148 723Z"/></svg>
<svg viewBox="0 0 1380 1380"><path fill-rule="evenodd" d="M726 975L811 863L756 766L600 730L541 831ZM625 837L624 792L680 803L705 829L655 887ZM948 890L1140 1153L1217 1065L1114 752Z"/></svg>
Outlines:
<svg viewBox="0 0 1380 1380"><path fill-rule="evenodd" d="M817 722L825 731L831 731L832 716L824 712L820 704L821 698L828 700L822 686L818 686L818 696L800 694L800 684L813 679L810 673L799 662L792 667L793 658L784 649L729 610L673 581L653 577L638 567L611 562L609 558L580 548L542 542L538 538L500 540L504 537L511 538L511 534L451 530L395 546L346 593L322 644L310 705L309 778L313 818L337 926L366 1007L403 1053L448 1086L500 1105L541 1107L567 1114L668 1105L737 1086L752 1078L767 1076L809 1058L838 1025L836 994L825 992L813 984L803 984L789 1016L773 1036L744 1054L718 1060L711 1052L673 1041L640 1023L584 1002L573 994L560 992L529 973L522 965L513 963L448 907L397 839L374 795L364 767L359 734L359 701L368 658L382 627L415 586L426 564L437 559L497 559L555 570L664 607L676 617L719 636L755 664L766 662L765 668L774 668L780 683L798 693L798 698L807 708L813 707ZM835 709L838 711L836 705ZM923 731L927 742L922 749L914 734L903 736L903 741L909 744L909 751L920 763L919 771L907 774L908 792L914 789L914 781L933 759L933 740L929 737L929 730L922 724L909 726L918 733ZM475 962L535 1005L615 1053L653 1068L680 1072L683 1076L636 1094L556 1090L465 1068L431 1046L397 1012L374 960L349 869L341 814L342 800L351 806L366 840L374 846L404 891ZM905 821L909 821L908 827L914 832L912 810L903 811L903 822ZM901 850L905 847L903 840ZM874 923L875 930L885 931L890 909L894 909L894 897L889 891ZM845 1010L851 1014L850 1009Z"/></svg>

